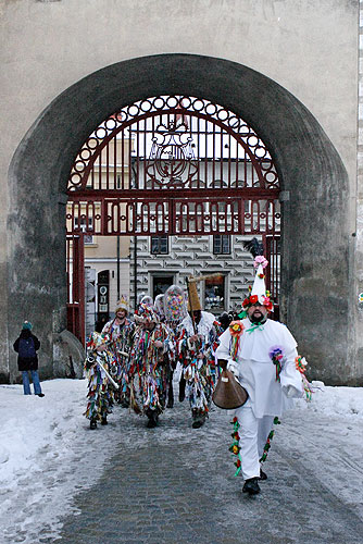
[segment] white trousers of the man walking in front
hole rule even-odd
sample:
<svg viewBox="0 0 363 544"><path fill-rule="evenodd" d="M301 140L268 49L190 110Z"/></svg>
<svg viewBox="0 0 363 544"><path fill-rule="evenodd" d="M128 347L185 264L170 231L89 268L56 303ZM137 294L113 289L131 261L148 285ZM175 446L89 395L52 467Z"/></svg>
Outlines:
<svg viewBox="0 0 363 544"><path fill-rule="evenodd" d="M237 408L239 446L245 480L260 475L260 458L274 424L274 416L255 418L250 406Z"/></svg>

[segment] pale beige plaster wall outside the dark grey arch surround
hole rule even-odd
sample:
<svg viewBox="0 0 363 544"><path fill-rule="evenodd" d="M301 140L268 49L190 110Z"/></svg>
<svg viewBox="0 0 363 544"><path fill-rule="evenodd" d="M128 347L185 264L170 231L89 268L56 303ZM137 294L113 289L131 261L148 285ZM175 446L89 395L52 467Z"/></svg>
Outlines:
<svg viewBox="0 0 363 544"><path fill-rule="evenodd" d="M8 186L8 170L28 128L55 97L84 76L122 60L165 52L235 61L271 77L298 98L324 128L348 171L347 228L352 234L356 231L352 245L362 244L355 222L358 0L170 0L167 10L163 0L2 0L0 36L0 123L1 134L5 135L0 150L2 285L7 283L10 251L8 214L14 212L9 206L16 194L16 186ZM92 99L97 103L97 94ZM256 96L256 100L262 99ZM92 112L87 114L91 116ZM74 123L77 121L75 116ZM58 122L62 123L62 119ZM34 161L37 159L35 156ZM28 184L30 189L32 180ZM360 185L361 178L361 194ZM21 221L22 209L15 213ZM360 270L351 248L354 300ZM4 292L0 295L0 373L7 379L8 343L13 342L17 331L8 330L11 309ZM25 310L28 318L37 320L30 305ZM363 337L360 329L355 330L359 316L353 313L352 351ZM45 334L51 342L51 332Z"/></svg>

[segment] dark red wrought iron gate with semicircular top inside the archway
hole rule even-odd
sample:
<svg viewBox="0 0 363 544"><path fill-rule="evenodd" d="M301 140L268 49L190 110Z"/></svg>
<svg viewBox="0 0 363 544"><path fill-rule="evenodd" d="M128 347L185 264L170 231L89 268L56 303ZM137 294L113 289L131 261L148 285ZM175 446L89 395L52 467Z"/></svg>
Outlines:
<svg viewBox="0 0 363 544"><path fill-rule="evenodd" d="M66 232L77 240L68 260L77 282L84 235L273 239L280 231L278 176L264 143L234 112L200 98L153 97L110 115L79 150L67 191ZM73 289L73 330L82 327L82 317L74 324L80 298L82 287Z"/></svg>

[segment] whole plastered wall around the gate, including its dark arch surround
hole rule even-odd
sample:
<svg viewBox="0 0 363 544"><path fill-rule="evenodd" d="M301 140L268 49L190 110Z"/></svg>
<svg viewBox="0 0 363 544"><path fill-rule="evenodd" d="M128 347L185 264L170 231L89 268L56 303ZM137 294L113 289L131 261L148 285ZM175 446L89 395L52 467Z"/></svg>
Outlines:
<svg viewBox="0 0 363 544"><path fill-rule="evenodd" d="M360 244L359 2L171 0L167 5L164 0L152 8L145 0L0 3L5 135L0 282L8 286L0 295L0 379L16 374L11 345L25 317L42 339L43 374L52 373L53 335L64 325L64 188L84 139L127 101L183 91L235 109L270 145L290 191L284 205L287 319L324 379L362 375L352 293L362 269L354 262L352 236L356 231ZM157 60L142 61L147 55ZM330 287L317 319L322 283ZM338 331L334 355L316 325L329 316Z"/></svg>

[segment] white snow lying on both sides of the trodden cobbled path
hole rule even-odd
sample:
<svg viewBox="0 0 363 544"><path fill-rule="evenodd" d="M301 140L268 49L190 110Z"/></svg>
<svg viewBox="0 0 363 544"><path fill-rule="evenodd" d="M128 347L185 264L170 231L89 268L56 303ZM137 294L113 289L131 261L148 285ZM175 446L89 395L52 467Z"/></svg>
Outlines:
<svg viewBox="0 0 363 544"><path fill-rule="evenodd" d="M363 387L314 385L312 403L299 400L293 410L301 415L298 419L315 425L311 447L324 419L324 433L329 434L326 421L331 421L328 425L336 441L346 442L349 450L360 455L362 435L355 429L363 423ZM77 515L73 497L92 485L116 452L114 438L121 426L112 418L101 433L88 431L83 416L86 380L51 380L42 383L42 391L46 396L39 398L23 395L22 385L0 386L1 543L40 542L40 532L45 539L55 537L61 517ZM299 447L298 438L297 444ZM335 483L333 468L327 478Z"/></svg>

